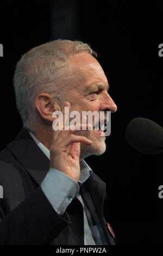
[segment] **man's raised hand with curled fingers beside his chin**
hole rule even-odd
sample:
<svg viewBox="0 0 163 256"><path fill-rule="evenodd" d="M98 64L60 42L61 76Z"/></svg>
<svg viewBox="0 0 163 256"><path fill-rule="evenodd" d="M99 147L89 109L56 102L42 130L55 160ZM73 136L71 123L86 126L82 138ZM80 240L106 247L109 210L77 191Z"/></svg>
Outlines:
<svg viewBox="0 0 163 256"><path fill-rule="evenodd" d="M70 103L65 102L65 107L69 107ZM65 108L64 108L65 109ZM63 117L65 120L65 110L63 110ZM78 124L82 130L82 124ZM71 130L69 126L68 130L64 129L54 131L51 145L51 161L50 168L59 170L60 172L70 176L73 180L78 182L80 176L80 143L85 145L91 145L92 141L84 136L75 135L79 130ZM89 125L86 125L86 129Z"/></svg>

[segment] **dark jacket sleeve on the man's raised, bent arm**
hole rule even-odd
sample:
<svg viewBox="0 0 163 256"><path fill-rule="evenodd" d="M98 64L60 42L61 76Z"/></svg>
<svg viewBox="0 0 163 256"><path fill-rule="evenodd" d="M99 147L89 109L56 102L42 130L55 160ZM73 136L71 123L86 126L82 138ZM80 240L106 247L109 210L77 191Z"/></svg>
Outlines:
<svg viewBox="0 0 163 256"><path fill-rule="evenodd" d="M7 212L4 194L0 198L0 245L48 245L71 223L66 212L57 214L40 186Z"/></svg>

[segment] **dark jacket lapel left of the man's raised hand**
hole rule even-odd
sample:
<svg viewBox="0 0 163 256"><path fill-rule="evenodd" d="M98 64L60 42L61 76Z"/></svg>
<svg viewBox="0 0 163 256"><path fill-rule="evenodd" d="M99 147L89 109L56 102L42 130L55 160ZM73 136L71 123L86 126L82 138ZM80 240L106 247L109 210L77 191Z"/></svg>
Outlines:
<svg viewBox="0 0 163 256"><path fill-rule="evenodd" d="M24 127L7 148L15 158L26 168L37 184L41 184L49 170L49 159L34 142Z"/></svg>

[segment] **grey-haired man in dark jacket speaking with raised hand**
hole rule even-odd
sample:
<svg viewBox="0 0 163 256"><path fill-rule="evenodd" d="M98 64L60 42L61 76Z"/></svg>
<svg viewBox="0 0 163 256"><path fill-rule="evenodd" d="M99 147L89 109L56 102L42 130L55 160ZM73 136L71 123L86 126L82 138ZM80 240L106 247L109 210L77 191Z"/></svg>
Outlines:
<svg viewBox="0 0 163 256"><path fill-rule="evenodd" d="M93 57L94 56L94 57ZM53 130L55 111L111 111L108 81L81 41L55 40L22 56L14 89L23 128L0 153L1 245L114 245L105 183L84 159L105 152L95 128ZM82 122L81 124L82 125Z"/></svg>

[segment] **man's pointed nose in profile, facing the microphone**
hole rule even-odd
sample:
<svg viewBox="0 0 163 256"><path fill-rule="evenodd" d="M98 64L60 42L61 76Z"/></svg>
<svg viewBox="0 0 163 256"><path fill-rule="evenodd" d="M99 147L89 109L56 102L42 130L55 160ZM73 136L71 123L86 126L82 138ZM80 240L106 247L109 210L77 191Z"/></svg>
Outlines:
<svg viewBox="0 0 163 256"><path fill-rule="evenodd" d="M115 104L115 102L112 100L112 98L108 93L105 93L99 110L104 111L105 109L108 109L109 111L111 111L111 113L114 113L117 111L117 105Z"/></svg>

